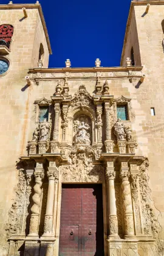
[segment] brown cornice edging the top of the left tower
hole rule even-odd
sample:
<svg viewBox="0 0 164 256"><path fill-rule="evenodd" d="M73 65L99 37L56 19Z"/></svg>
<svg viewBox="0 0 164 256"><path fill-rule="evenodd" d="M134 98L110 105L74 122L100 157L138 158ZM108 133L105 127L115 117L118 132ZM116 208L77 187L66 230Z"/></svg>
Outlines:
<svg viewBox="0 0 164 256"><path fill-rule="evenodd" d="M46 36L49 54L52 54L52 49L51 49L50 40L49 40L49 34L47 32L47 26L46 26L46 22L44 20L43 10L42 10L40 4L0 4L0 10L22 9L23 7L25 7L26 9L38 9L38 12L39 12L39 15L41 18L41 23L42 23L43 29L44 29L44 34Z"/></svg>

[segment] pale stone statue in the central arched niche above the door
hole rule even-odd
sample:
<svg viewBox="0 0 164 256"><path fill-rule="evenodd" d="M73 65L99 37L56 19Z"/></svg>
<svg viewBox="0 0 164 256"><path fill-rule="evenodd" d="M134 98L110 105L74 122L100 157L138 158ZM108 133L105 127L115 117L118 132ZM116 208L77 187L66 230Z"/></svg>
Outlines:
<svg viewBox="0 0 164 256"><path fill-rule="evenodd" d="M89 132L87 132L89 130L89 125L80 121L75 121L75 122L78 122L77 134L75 135L75 143L91 144L90 134Z"/></svg>

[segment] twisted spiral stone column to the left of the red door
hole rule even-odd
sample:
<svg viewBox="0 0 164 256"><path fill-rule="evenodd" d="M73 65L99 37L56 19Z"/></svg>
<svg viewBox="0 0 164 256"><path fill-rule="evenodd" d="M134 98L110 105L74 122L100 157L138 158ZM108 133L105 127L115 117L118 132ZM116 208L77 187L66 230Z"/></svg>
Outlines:
<svg viewBox="0 0 164 256"><path fill-rule="evenodd" d="M34 195L32 197L33 206L31 208L32 214L30 216L29 236L38 236L39 213L41 207L41 186L44 177L43 163L36 163L34 176L36 184L33 187Z"/></svg>

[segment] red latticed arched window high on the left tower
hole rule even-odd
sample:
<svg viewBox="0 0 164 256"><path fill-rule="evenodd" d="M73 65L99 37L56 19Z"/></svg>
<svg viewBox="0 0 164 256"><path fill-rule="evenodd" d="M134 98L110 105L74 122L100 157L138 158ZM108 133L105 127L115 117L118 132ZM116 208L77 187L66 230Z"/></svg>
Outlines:
<svg viewBox="0 0 164 256"><path fill-rule="evenodd" d="M0 25L0 45L5 45L10 49L13 36L13 26L9 24Z"/></svg>

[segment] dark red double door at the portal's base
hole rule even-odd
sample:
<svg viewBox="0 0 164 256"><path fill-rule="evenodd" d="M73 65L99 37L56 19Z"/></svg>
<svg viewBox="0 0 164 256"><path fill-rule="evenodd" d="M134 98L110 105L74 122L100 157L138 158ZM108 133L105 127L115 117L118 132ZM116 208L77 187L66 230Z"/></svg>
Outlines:
<svg viewBox="0 0 164 256"><path fill-rule="evenodd" d="M60 256L103 256L101 184L62 186Z"/></svg>

